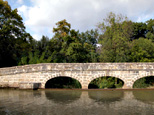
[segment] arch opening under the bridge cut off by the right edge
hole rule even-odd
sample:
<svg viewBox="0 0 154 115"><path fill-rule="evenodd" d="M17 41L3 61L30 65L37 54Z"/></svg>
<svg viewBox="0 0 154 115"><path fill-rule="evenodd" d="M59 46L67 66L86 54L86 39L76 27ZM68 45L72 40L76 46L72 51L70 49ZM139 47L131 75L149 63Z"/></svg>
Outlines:
<svg viewBox="0 0 154 115"><path fill-rule="evenodd" d="M154 88L154 76L147 76L136 80L133 88Z"/></svg>

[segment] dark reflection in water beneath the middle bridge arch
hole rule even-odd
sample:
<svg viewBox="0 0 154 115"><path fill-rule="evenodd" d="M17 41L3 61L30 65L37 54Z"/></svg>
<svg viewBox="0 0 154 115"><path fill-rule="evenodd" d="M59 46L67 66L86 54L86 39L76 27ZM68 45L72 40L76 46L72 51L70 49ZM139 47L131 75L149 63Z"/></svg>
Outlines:
<svg viewBox="0 0 154 115"><path fill-rule="evenodd" d="M114 102L120 101L123 98L123 91L110 90L110 91L89 91L89 97L96 102Z"/></svg>

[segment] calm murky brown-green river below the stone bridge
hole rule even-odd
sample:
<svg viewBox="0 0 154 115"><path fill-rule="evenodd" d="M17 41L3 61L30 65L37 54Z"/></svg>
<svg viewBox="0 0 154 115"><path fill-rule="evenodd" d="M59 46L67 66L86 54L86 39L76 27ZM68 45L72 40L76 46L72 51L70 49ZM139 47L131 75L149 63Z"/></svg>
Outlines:
<svg viewBox="0 0 154 115"><path fill-rule="evenodd" d="M0 89L0 115L154 115L154 90Z"/></svg>

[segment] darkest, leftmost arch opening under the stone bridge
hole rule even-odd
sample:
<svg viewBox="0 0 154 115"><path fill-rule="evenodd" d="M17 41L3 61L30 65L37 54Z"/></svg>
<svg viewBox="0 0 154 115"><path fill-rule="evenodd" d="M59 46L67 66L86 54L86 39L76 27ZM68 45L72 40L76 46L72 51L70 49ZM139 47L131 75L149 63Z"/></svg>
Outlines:
<svg viewBox="0 0 154 115"><path fill-rule="evenodd" d="M76 79L60 76L48 80L45 84L45 88L79 89L81 88L81 84Z"/></svg>

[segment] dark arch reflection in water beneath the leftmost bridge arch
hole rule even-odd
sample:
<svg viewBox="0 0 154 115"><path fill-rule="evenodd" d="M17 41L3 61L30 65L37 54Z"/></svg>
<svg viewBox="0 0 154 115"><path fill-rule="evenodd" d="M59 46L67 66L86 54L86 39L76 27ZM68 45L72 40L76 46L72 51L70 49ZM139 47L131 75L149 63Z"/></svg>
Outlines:
<svg viewBox="0 0 154 115"><path fill-rule="evenodd" d="M82 91L72 90L46 90L45 95L48 100L55 103L68 104L80 98Z"/></svg>

